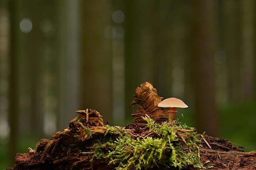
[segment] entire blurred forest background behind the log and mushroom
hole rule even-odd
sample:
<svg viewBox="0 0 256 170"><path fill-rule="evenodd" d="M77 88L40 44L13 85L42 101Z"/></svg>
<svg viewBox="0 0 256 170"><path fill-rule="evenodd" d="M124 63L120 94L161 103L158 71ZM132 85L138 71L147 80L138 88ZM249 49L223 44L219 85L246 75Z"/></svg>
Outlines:
<svg viewBox="0 0 256 170"><path fill-rule="evenodd" d="M198 132L256 150L256 1L0 0L0 169L75 110L132 122L135 88Z"/></svg>

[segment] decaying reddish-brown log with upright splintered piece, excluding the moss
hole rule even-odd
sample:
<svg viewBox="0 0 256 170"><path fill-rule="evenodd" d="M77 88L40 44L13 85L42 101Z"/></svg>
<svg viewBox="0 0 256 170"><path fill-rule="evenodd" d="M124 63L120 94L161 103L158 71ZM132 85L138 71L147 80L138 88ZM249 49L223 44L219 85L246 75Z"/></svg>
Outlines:
<svg viewBox="0 0 256 170"><path fill-rule="evenodd" d="M146 127L145 119L150 117L156 123L168 121L167 111L157 107L162 97L149 82L145 82L136 88L135 100L130 104L139 105L132 113L135 117L132 124L125 128L115 126L124 130L134 138L144 139L155 137L153 132ZM102 139L116 138L118 135L106 133L107 126L103 124L101 115L96 110L86 109L76 111L79 115L69 123L69 127L63 132L56 132L50 139L41 139L36 149L29 148L29 153L16 156L16 164L7 170L112 170L117 164L109 164L108 159L94 158L94 144ZM175 124L174 124L175 125ZM186 132L186 129L181 131ZM198 135L200 137L200 135ZM256 170L256 151L243 152L241 147L236 147L227 139L220 139L204 135L200 145L200 161L209 163L206 166L212 170ZM180 141L185 139L180 135ZM103 148L106 151L108 147ZM161 170L177 168L160 167ZM193 166L183 169L193 170Z"/></svg>

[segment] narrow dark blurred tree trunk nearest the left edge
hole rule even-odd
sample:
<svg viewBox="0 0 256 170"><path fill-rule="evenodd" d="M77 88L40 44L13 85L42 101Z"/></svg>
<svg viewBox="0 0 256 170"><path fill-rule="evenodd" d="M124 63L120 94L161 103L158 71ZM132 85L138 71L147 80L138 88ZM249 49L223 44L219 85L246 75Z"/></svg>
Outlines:
<svg viewBox="0 0 256 170"><path fill-rule="evenodd" d="M18 21L18 3L17 1L9 2L10 22L11 22L11 38L9 48L9 96L8 96L8 122L10 127L9 141L9 163L14 164L13 156L17 152L18 126L19 126L19 84L18 84L18 42L17 35L19 31Z"/></svg>

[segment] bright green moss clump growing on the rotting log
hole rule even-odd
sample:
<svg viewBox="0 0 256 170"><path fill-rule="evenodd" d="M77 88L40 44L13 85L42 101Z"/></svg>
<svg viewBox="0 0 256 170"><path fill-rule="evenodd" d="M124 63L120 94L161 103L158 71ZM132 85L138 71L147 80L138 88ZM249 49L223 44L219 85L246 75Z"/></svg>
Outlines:
<svg viewBox="0 0 256 170"><path fill-rule="evenodd" d="M157 124L148 116L143 119L147 121L144 130L148 135L137 138L127 129L107 126L106 135L111 137L94 145L94 158L109 159L109 164L115 164L118 170L204 168L200 162L200 138L193 128L178 121Z"/></svg>

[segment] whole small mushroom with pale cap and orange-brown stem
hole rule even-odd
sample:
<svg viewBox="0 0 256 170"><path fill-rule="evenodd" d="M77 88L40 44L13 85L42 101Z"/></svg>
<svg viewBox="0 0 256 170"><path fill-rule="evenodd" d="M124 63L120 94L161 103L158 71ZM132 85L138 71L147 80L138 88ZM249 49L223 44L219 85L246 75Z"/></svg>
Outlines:
<svg viewBox="0 0 256 170"><path fill-rule="evenodd" d="M175 119L175 115L177 113L176 108L189 107L181 99L177 99L175 97L164 99L157 106L160 108L170 108L170 110L168 110L169 121L173 121Z"/></svg>

